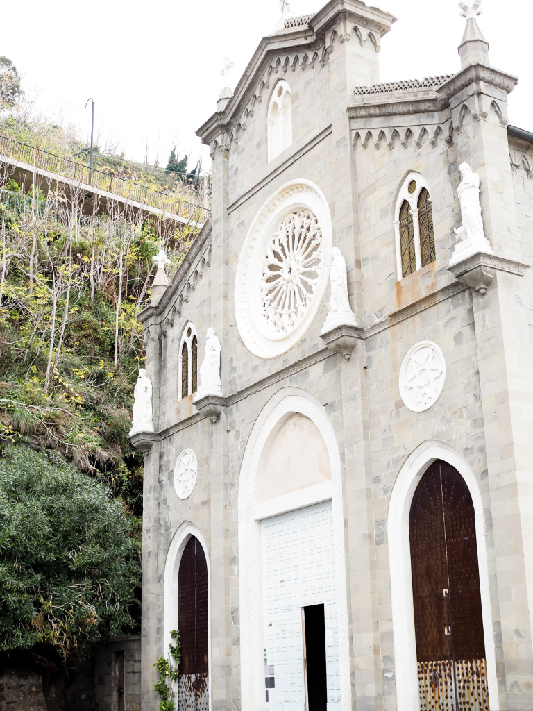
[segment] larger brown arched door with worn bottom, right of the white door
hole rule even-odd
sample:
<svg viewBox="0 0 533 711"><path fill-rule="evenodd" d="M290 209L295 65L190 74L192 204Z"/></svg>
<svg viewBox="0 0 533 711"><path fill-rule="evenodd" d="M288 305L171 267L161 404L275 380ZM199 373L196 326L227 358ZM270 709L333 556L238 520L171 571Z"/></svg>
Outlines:
<svg viewBox="0 0 533 711"><path fill-rule="evenodd" d="M421 711L488 711L474 507L446 462L416 487L409 540Z"/></svg>

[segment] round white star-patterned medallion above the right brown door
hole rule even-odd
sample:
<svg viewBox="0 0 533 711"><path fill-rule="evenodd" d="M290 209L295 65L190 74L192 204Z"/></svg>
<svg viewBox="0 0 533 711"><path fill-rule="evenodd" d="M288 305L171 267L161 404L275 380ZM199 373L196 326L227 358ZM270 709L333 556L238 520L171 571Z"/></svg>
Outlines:
<svg viewBox="0 0 533 711"><path fill-rule="evenodd" d="M443 352L431 341L420 341L407 353L400 368L399 391L412 412L424 412L438 400L446 378Z"/></svg>

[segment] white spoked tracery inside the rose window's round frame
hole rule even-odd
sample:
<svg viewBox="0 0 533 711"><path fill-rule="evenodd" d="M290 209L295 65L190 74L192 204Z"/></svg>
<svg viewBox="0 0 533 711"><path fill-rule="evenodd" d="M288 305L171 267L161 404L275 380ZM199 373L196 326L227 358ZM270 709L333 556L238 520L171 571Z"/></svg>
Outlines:
<svg viewBox="0 0 533 711"><path fill-rule="evenodd" d="M306 314L323 266L321 226L311 210L284 218L266 248L259 281L262 317L276 333L288 333Z"/></svg>

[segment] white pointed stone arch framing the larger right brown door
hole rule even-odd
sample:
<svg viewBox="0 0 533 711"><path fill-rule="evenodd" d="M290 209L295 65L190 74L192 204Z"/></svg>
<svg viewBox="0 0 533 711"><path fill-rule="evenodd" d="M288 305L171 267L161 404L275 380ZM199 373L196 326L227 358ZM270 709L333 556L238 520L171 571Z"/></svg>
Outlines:
<svg viewBox="0 0 533 711"><path fill-rule="evenodd" d="M490 709L500 709L497 695L496 661L485 542L483 501L475 475L463 456L443 442L426 440L407 458L400 469L389 502L387 536L392 598L392 631L398 711L419 711L416 639L414 633L411 548L409 545L409 512L414 491L428 467L437 459L451 464L463 477L475 513L475 536L478 544L478 567L487 661L487 685Z"/></svg>

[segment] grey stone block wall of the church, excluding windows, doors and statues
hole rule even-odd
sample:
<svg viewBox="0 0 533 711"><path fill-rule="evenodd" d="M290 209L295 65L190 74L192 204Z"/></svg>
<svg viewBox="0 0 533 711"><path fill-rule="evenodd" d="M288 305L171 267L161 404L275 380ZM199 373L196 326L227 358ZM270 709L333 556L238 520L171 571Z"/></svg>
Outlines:
<svg viewBox="0 0 533 711"><path fill-rule="evenodd" d="M146 316L147 369L158 388L161 434L145 464L143 711L154 703L151 665L168 632L166 557L184 521L200 530L208 549L212 711L240 709L239 641L246 631L239 627L239 476L257 417L287 386L310 392L323 405L340 450L357 709L397 709L387 518L399 471L429 440L448 444L468 462L483 501L493 623L487 643L495 648L500 709L533 707L533 528L527 513L533 501L532 276L519 277L500 263L480 296L446 269L456 242L453 228L461 222L458 164L467 161L479 171L485 231L507 260L533 261L533 181L524 168L512 172L507 132L497 114L463 118L459 127L459 101L430 117L448 129L451 122L457 126L453 140L444 141L448 132L434 145L427 139L411 139L405 147L352 145L354 133L367 124L349 122L345 113L347 51L336 43L323 68L286 75L295 141L279 159L266 162L266 95L237 141L216 149L210 240L188 273L169 287L168 306ZM275 81L271 77L271 87ZM502 100L501 90L493 93ZM427 121L427 114L411 112L382 123L390 131ZM431 186L436 261L398 282L392 222L397 191L409 171L421 173ZM316 183L330 206L333 245L345 255L350 300L365 328L350 360L328 351L320 338L328 292L301 341L278 358L253 355L237 331L232 299L244 238L264 201L294 178ZM210 266L188 290L208 245ZM172 316L177 304L179 313ZM198 330L199 364L208 326L222 343L222 387L230 400L216 422L197 413L190 398L178 402L178 346L188 319ZM398 381L404 356L422 340L442 349L446 382L431 409L416 413L402 402ZM185 447L198 457L198 480L181 501L173 467Z"/></svg>

